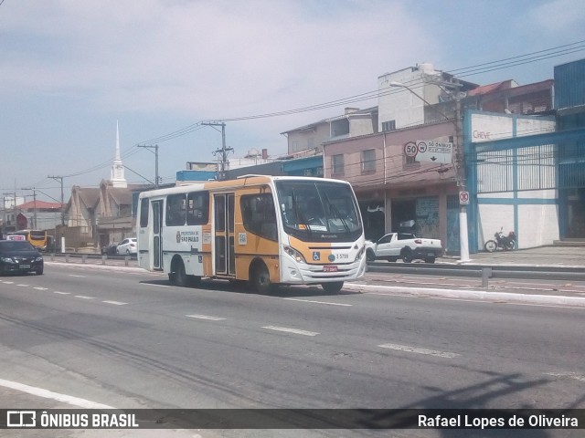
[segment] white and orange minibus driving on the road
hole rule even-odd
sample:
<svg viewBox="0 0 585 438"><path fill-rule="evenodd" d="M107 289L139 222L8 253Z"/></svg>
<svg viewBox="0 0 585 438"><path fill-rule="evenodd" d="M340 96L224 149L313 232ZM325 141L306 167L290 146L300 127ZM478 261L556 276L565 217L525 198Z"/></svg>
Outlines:
<svg viewBox="0 0 585 438"><path fill-rule="evenodd" d="M339 291L366 273L364 227L345 181L268 175L140 194L138 264L172 284L202 277Z"/></svg>

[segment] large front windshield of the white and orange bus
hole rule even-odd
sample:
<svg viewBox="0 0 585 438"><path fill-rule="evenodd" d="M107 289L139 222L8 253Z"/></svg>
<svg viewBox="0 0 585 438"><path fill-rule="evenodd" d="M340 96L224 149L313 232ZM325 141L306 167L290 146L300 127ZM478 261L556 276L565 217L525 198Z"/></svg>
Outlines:
<svg viewBox="0 0 585 438"><path fill-rule="evenodd" d="M354 240L362 233L356 198L345 183L276 182L284 231L304 241Z"/></svg>

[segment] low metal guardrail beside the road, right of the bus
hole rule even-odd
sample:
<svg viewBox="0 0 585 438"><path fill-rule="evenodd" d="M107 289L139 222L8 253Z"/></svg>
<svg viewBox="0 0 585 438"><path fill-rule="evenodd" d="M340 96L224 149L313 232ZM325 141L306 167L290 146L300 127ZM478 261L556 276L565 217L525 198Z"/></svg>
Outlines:
<svg viewBox="0 0 585 438"><path fill-rule="evenodd" d="M563 266L512 266L512 265L431 265L392 262L369 262L367 272L388 274L418 274L429 276L471 276L482 279L488 287L490 278L519 278L537 280L585 281L585 269Z"/></svg>

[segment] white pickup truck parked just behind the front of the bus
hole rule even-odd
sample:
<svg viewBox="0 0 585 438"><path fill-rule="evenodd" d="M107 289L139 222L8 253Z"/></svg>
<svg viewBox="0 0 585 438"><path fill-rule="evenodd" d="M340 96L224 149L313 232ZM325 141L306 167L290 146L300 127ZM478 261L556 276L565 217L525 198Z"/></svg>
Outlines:
<svg viewBox="0 0 585 438"><path fill-rule="evenodd" d="M380 237L376 243L366 241L368 262L377 259L396 262L401 258L404 263L410 263L414 259L435 263L435 258L440 255L442 255L441 240L423 239L411 233L390 233Z"/></svg>

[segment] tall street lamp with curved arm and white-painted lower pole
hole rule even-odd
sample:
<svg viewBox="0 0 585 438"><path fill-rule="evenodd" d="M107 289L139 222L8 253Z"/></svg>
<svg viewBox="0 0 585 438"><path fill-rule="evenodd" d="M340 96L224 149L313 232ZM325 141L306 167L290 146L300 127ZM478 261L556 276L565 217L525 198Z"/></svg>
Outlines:
<svg viewBox="0 0 585 438"><path fill-rule="evenodd" d="M427 105L431 106L434 110L436 110L441 116L448 121L451 121L453 125L455 125L455 139L453 141L453 149L455 150L455 169L457 171L457 182L459 186L459 199L462 199L462 192L465 192L465 159L463 153L463 129L462 129L462 120L461 120L461 97L459 93L455 94L455 120L448 118L444 113L440 110L432 107L431 103L429 103L426 99L420 97L416 92L414 92L410 87L400 83L400 82L390 82L390 87L399 87L402 89L408 89L410 93L414 94L417 98L422 100ZM467 231L467 205L464 203L459 204L459 258L460 262L469 262L469 235Z"/></svg>

